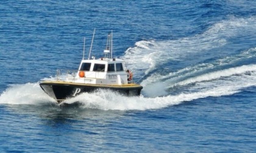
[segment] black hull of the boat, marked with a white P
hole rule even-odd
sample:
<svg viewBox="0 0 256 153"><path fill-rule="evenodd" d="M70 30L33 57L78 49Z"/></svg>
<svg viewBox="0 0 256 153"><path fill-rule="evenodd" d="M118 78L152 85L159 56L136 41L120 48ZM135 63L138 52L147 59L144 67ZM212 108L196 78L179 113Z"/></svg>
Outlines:
<svg viewBox="0 0 256 153"><path fill-rule="evenodd" d="M142 86L138 84L128 84L127 86L107 86L107 85L94 85L94 84L76 84L76 83L59 83L59 82L43 82L40 87L50 97L60 103L67 98L76 97L84 92L94 92L98 89L107 89L118 92L126 96L140 95Z"/></svg>

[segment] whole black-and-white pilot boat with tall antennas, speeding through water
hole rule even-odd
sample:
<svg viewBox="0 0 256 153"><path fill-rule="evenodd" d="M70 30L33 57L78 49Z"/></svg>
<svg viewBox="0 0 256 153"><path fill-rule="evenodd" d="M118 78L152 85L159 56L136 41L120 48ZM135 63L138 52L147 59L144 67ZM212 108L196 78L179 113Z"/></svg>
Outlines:
<svg viewBox="0 0 256 153"><path fill-rule="evenodd" d="M93 32L94 38L95 29ZM91 41L91 48L93 39ZM113 32L108 33L107 45L104 55L96 59L91 56L91 48L88 59L84 54L78 70L57 70L57 77L51 81L41 81L40 87L49 97L58 103L76 97L84 92L96 92L97 90L110 90L125 96L138 96L143 87L133 81L133 73L127 69L124 60L113 58Z"/></svg>

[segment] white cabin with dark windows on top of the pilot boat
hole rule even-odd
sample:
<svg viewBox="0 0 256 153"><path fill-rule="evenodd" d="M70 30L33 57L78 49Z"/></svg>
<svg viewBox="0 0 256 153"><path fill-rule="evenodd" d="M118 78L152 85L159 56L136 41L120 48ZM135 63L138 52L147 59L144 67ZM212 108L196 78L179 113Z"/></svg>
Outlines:
<svg viewBox="0 0 256 153"><path fill-rule="evenodd" d="M82 60L76 77L66 81L86 84L122 85L128 84L132 73L127 73L123 60L100 58L98 60Z"/></svg>

